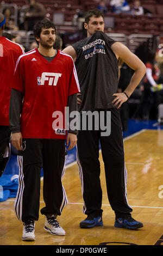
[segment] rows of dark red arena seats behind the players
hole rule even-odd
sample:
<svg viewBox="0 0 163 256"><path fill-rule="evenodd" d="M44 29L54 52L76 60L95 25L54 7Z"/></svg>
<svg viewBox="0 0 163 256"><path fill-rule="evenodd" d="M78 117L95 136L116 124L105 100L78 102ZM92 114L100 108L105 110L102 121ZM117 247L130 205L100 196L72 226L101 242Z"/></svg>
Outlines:
<svg viewBox="0 0 163 256"><path fill-rule="evenodd" d="M1 0L0 0L1 1ZM44 5L46 9L46 17L49 20L54 20L54 15L60 14L60 23L57 22L58 33L73 33L78 27L78 17L84 16L87 10L97 8L97 1L94 0L35 0ZM111 12L110 4L106 17L110 17L111 26L105 26L105 33L121 33L130 34L153 34L163 35L163 0L143 0L143 8L151 11L152 14L134 16L131 14L115 14ZM18 10L27 4L26 0L5 0L3 4L16 4ZM133 0L128 0L130 7L133 5ZM58 16L59 17L59 16ZM114 24L114 26L112 26Z"/></svg>

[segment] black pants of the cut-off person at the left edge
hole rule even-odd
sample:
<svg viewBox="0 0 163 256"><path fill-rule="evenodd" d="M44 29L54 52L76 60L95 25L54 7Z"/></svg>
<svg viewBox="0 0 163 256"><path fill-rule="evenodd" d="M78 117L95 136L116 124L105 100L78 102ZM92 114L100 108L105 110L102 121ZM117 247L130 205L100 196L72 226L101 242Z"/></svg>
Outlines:
<svg viewBox="0 0 163 256"><path fill-rule="evenodd" d="M10 158L9 137L10 137L10 127L0 125L0 177L2 176ZM7 153L6 155L5 155L5 150Z"/></svg>

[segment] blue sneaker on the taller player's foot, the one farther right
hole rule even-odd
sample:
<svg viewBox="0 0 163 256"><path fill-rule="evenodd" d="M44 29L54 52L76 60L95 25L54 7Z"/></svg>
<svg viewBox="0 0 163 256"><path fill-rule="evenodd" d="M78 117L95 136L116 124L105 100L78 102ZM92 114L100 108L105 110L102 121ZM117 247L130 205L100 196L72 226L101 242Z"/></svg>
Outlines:
<svg viewBox="0 0 163 256"><path fill-rule="evenodd" d="M142 228L143 223L134 220L131 216L126 216L123 218L116 218L114 227L136 230L138 228Z"/></svg>

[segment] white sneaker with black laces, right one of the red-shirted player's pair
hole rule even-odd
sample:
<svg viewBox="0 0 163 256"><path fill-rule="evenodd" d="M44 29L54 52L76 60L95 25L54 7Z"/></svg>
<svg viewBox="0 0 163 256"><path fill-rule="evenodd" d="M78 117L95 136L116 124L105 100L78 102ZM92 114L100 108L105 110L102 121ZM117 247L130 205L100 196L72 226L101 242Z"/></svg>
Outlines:
<svg viewBox="0 0 163 256"><path fill-rule="evenodd" d="M60 227L59 222L56 220L57 215L46 215L44 229L52 235L65 235L65 230Z"/></svg>

